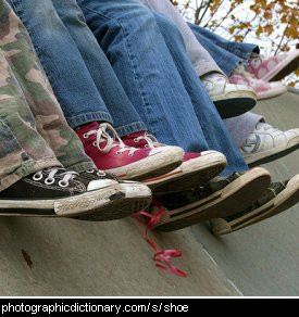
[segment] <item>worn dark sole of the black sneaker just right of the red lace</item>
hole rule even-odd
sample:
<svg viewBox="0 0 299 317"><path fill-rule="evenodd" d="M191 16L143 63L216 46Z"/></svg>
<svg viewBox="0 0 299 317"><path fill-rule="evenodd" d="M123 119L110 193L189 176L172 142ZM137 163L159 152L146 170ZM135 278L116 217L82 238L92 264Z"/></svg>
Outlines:
<svg viewBox="0 0 299 317"><path fill-rule="evenodd" d="M271 176L265 169L251 169L223 190L190 205L165 213L154 230L174 231L200 221L236 214L249 207L270 183Z"/></svg>

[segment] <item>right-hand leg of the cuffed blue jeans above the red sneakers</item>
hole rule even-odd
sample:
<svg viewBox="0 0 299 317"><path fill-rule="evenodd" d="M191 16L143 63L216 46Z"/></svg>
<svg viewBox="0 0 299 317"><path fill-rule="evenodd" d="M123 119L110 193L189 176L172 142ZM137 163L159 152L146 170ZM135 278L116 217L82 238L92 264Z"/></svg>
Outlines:
<svg viewBox="0 0 299 317"><path fill-rule="evenodd" d="M76 0L52 0L57 13L72 36L88 72L113 118L120 136L146 130L109 60L99 46Z"/></svg>

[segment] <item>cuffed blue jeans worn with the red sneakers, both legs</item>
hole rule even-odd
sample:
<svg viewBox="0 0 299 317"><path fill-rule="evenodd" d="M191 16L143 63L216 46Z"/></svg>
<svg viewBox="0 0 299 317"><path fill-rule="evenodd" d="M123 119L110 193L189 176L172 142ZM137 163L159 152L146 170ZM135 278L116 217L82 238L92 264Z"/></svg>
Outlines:
<svg viewBox="0 0 299 317"><path fill-rule="evenodd" d="M75 0L8 2L28 29L71 127L101 121L121 136L146 130Z"/></svg>

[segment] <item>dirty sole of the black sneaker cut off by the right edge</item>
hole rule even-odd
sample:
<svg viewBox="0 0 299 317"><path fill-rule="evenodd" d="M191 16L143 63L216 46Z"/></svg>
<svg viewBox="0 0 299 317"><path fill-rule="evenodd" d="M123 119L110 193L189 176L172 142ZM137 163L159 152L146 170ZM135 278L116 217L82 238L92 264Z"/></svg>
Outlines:
<svg viewBox="0 0 299 317"><path fill-rule="evenodd" d="M232 221L215 219L211 223L212 232L215 236L223 236L238 231L248 226L254 225L270 217L278 215L299 202L299 176L295 176L276 198L263 206L236 218Z"/></svg>

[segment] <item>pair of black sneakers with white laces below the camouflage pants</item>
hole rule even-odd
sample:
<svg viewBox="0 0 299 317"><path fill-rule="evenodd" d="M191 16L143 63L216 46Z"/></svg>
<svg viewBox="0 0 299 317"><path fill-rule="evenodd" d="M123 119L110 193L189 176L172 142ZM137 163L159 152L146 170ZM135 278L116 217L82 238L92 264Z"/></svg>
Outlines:
<svg viewBox="0 0 299 317"><path fill-rule="evenodd" d="M136 189L136 186L132 187ZM144 185L139 190L142 195L136 194L136 200L147 206L151 192ZM123 207L126 201L124 188L114 179L86 179L64 168L48 168L0 192L0 215L112 220L136 212L135 204Z"/></svg>

